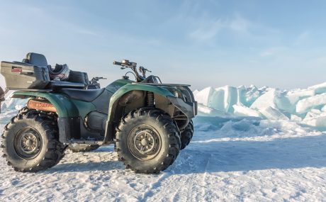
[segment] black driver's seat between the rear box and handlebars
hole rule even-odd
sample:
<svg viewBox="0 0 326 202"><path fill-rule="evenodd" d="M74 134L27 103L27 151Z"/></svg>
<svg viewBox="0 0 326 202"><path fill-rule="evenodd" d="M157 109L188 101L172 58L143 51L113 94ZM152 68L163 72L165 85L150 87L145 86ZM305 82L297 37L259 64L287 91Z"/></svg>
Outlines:
<svg viewBox="0 0 326 202"><path fill-rule="evenodd" d="M58 92L66 94L71 99L81 101L94 101L98 96L103 93L104 89L85 90L85 89L60 89Z"/></svg>

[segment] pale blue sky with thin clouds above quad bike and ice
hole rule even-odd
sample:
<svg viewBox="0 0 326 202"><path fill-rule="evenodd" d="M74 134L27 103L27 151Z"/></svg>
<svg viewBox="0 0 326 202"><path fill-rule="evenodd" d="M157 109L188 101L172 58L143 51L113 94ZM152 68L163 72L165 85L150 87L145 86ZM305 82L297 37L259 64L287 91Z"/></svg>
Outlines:
<svg viewBox="0 0 326 202"><path fill-rule="evenodd" d="M0 60L43 53L89 77L129 59L163 82L281 89L326 82L326 1L2 1ZM4 84L0 79L1 86Z"/></svg>

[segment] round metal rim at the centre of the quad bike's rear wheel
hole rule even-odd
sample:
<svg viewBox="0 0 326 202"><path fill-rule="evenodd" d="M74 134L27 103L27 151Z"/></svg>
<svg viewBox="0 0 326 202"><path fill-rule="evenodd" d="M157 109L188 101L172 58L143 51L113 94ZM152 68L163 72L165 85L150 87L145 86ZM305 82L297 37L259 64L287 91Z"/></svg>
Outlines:
<svg viewBox="0 0 326 202"><path fill-rule="evenodd" d="M17 154L24 159L33 159L42 148L42 138L38 131L33 128L23 128L18 131L14 147Z"/></svg>

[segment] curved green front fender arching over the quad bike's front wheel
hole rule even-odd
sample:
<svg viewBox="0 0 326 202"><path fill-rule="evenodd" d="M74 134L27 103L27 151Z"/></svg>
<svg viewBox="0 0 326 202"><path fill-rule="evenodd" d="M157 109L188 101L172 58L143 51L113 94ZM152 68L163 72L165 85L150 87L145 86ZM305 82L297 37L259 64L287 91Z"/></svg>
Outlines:
<svg viewBox="0 0 326 202"><path fill-rule="evenodd" d="M129 91L150 91L150 92L153 92L154 94L159 94L161 96L174 97L174 95L170 91L168 91L167 89L164 89L162 87L159 87L159 86L150 86L150 85L141 84L141 83L125 84L124 86L120 87L120 89L118 89L110 99L110 103L108 106L108 121L109 122L112 119L111 114L114 110L113 106L115 106L116 102L120 99L121 96L128 93Z"/></svg>

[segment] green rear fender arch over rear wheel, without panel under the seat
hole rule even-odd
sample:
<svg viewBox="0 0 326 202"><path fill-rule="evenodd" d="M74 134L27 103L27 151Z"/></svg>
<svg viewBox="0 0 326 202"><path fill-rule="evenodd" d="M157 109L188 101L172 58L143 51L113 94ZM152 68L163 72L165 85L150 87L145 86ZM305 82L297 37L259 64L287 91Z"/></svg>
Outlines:
<svg viewBox="0 0 326 202"><path fill-rule="evenodd" d="M33 92L33 91L16 91L13 92L12 98L28 99L41 97L47 99L57 109L57 116L59 118L69 118L79 116L78 108L72 101L62 94L52 94L49 92Z"/></svg>

